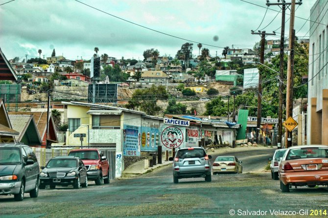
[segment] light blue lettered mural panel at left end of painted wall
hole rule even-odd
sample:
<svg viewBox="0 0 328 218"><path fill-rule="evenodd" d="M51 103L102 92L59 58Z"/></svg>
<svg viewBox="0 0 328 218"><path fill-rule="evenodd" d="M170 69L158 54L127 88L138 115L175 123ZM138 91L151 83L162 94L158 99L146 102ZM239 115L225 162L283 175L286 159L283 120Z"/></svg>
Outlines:
<svg viewBox="0 0 328 218"><path fill-rule="evenodd" d="M139 126L124 125L123 128L123 155L140 156L141 131Z"/></svg>

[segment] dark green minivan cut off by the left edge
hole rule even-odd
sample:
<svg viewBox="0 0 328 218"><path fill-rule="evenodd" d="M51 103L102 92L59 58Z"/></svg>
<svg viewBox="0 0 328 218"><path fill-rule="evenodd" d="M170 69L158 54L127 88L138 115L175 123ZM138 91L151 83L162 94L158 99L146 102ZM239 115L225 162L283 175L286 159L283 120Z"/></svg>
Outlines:
<svg viewBox="0 0 328 218"><path fill-rule="evenodd" d="M0 195L14 194L15 201L22 201L24 193L37 197L39 173L32 148L23 144L0 144Z"/></svg>

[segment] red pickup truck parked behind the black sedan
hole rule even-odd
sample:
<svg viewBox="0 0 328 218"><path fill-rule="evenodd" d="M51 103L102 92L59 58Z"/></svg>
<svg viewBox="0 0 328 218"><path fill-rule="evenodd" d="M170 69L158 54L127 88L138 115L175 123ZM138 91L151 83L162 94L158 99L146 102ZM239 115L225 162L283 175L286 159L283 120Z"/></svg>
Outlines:
<svg viewBox="0 0 328 218"><path fill-rule="evenodd" d="M69 156L79 157L87 167L88 180L96 185L109 183L109 164L106 157L96 148L74 149Z"/></svg>

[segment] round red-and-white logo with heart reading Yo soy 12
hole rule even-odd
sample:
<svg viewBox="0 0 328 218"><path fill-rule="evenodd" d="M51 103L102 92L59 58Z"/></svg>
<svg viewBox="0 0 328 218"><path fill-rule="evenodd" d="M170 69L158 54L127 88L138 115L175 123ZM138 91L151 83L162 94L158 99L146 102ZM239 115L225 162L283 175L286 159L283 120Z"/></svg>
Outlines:
<svg viewBox="0 0 328 218"><path fill-rule="evenodd" d="M184 134L178 127L169 126L163 130L161 140L165 147L177 148L184 141Z"/></svg>

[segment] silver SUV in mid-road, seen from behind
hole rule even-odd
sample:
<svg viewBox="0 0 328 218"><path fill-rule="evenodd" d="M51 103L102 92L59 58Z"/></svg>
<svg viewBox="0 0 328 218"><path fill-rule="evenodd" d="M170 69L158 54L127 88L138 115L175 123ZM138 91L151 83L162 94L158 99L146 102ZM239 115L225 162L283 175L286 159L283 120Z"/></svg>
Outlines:
<svg viewBox="0 0 328 218"><path fill-rule="evenodd" d="M211 182L211 155L207 155L202 147L185 147L177 150L173 161L173 182L182 178L204 177Z"/></svg>

